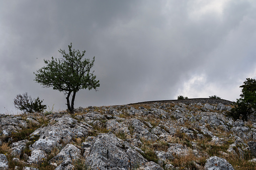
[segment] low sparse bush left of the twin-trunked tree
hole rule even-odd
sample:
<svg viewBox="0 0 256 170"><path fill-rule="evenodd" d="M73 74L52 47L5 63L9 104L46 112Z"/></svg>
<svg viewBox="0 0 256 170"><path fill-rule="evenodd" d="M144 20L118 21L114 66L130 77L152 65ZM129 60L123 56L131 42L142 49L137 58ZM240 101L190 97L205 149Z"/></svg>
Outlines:
<svg viewBox="0 0 256 170"><path fill-rule="evenodd" d="M16 96L14 99L14 106L21 111L29 113L42 112L46 109L46 105L43 105L42 102L43 100L40 100L39 97L37 97L37 99L32 99L26 92Z"/></svg>

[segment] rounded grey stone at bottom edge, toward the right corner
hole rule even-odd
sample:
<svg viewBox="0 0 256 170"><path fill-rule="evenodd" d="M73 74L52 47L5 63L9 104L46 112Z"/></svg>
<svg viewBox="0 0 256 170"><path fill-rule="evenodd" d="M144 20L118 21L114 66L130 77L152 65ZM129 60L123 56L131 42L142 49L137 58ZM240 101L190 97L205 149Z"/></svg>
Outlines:
<svg viewBox="0 0 256 170"><path fill-rule="evenodd" d="M205 170L234 170L234 168L226 159L212 156L206 159Z"/></svg>

